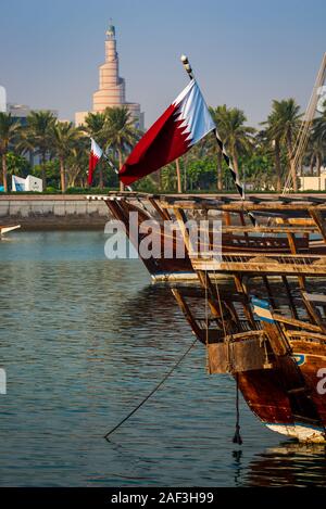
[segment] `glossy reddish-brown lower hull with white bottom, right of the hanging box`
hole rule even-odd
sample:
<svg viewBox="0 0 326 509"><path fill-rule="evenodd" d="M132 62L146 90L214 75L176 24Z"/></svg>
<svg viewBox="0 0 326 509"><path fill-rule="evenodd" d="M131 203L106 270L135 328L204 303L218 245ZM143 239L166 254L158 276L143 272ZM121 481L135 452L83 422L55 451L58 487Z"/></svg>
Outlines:
<svg viewBox="0 0 326 509"><path fill-rule="evenodd" d="M291 346L291 357L269 356L269 369L238 371L239 389L252 412L271 430L300 442L325 443L326 346L317 340L294 341ZM241 353L242 362L243 358ZM325 383L318 377L323 368Z"/></svg>

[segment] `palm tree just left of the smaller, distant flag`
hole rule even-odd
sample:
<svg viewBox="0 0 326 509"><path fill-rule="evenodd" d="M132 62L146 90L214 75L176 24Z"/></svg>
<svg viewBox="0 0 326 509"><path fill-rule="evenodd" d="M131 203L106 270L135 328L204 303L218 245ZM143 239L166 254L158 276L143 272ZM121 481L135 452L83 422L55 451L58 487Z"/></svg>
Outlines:
<svg viewBox="0 0 326 509"><path fill-rule="evenodd" d="M66 190L65 163L82 136L80 129L74 127L72 122L57 122L51 129L53 151L60 164L61 191Z"/></svg>

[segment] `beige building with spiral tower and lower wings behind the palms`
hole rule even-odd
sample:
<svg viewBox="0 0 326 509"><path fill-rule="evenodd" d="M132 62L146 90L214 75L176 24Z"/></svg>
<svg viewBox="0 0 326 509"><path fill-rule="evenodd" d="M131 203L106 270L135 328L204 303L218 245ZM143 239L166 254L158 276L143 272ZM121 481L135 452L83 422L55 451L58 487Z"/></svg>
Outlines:
<svg viewBox="0 0 326 509"><path fill-rule="evenodd" d="M143 113L140 104L126 101L125 79L118 74L118 55L116 52L115 27L109 26L105 39L105 62L99 68L99 90L92 96L92 112L101 113L106 107L127 106L135 126L143 129ZM75 114L76 125L83 125L89 112Z"/></svg>

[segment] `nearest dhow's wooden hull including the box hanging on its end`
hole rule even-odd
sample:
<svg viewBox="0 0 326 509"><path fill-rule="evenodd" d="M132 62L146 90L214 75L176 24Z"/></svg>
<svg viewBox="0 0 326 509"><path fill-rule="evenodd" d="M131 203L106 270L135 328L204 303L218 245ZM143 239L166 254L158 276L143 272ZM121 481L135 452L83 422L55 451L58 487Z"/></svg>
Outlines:
<svg viewBox="0 0 326 509"><path fill-rule="evenodd" d="M271 430L301 442L326 442L324 333L294 330L293 326L285 330L275 323L250 322L244 317L235 322L235 311L240 313L243 300L227 283L225 290L220 288L222 302L229 310L224 320L231 317L238 331L226 335L224 327L229 330L230 321L220 328L218 311L215 318L205 318L214 301L205 305L201 289L178 287L172 291L192 332L208 351L211 374L231 374L251 411Z"/></svg>

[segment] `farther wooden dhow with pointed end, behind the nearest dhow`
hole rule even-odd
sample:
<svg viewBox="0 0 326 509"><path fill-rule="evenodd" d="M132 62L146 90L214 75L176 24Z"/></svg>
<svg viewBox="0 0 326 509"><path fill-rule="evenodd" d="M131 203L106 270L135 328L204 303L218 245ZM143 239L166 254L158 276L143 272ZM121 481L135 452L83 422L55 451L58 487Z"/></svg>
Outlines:
<svg viewBox="0 0 326 509"><path fill-rule="evenodd" d="M143 257L139 252L145 266L151 275L153 281L193 281L197 276L193 271L187 252L184 256L177 256L177 246L183 243L183 236L178 229L175 215L175 205L181 203L184 207L192 213L192 219L206 218L220 219L222 222L222 244L224 252L238 253L291 253L291 233L294 229L287 218L291 212L298 216L296 226L300 228L302 236L296 239L296 249L300 253L325 250L321 231L314 219L309 214L301 214L300 211L287 208L291 200L287 196L276 195L269 203L269 208L265 207L266 199L251 198L251 203L255 205L255 214L262 222L260 233L252 229L248 220L242 201L234 195L172 195L172 194L149 194L139 192L112 192L108 195L90 195L88 200L103 200L108 205L111 215L123 222L130 242L138 249L148 231L142 231L146 221L154 221L151 236L153 242L161 245L159 256ZM297 200L298 201L298 200ZM300 200L299 200L300 201ZM303 202L304 203L304 202ZM324 203L322 198L309 198L306 208ZM217 206L223 205L223 208ZM262 204L262 207L260 207ZM279 209L278 205L283 205ZM195 205L195 206L193 206ZM294 200L296 205L296 200ZM130 214L137 213L137 229L130 228ZM306 217L305 217L306 216ZM301 217L301 221L300 221ZM172 224L177 228L173 231L166 225ZM274 225L274 226L273 226ZM271 228L273 226L273 228ZM264 229L262 229L264 228ZM278 230L277 230L278 228ZM281 233L276 236L275 233ZM166 256L166 247L170 247L170 256ZM139 250L138 250L139 251ZM216 276L217 277L217 276Z"/></svg>

